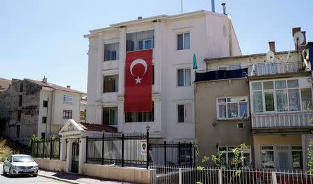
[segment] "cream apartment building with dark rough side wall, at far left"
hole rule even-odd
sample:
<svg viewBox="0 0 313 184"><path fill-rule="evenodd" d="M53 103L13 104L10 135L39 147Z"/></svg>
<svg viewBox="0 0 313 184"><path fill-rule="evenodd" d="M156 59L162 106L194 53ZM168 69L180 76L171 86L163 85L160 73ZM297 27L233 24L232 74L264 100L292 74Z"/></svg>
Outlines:
<svg viewBox="0 0 313 184"><path fill-rule="evenodd" d="M32 79L12 79L0 93L2 132L13 140L28 143L31 135L42 138L58 135L68 119L79 121L81 97L86 94Z"/></svg>

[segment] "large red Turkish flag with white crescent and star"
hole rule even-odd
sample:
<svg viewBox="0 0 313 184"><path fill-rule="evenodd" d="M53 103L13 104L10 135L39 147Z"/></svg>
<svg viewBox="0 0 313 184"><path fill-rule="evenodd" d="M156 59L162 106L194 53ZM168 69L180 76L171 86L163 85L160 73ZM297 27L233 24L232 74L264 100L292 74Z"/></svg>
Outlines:
<svg viewBox="0 0 313 184"><path fill-rule="evenodd" d="M125 112L152 111L152 49L126 53Z"/></svg>

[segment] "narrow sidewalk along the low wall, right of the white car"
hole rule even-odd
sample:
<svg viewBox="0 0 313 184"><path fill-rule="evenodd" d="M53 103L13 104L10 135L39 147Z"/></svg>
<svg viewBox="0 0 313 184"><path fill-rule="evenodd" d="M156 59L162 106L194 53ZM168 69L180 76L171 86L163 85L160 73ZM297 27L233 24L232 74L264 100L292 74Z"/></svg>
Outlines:
<svg viewBox="0 0 313 184"><path fill-rule="evenodd" d="M40 169L38 176L43 176L46 178L53 178L58 181L64 181L67 183L77 183L77 184L134 184L124 181L113 181L104 178L95 178L92 176L85 176L82 174L74 174L67 172L51 172L47 170Z"/></svg>

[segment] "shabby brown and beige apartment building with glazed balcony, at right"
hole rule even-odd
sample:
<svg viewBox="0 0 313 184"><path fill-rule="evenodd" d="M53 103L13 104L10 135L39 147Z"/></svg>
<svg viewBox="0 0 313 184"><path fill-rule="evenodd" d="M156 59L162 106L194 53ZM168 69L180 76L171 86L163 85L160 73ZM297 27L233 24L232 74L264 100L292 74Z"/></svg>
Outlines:
<svg viewBox="0 0 313 184"><path fill-rule="evenodd" d="M195 135L204 155L225 151L224 163L231 166L231 150L246 143L245 166L305 168L313 119L309 49L299 49L305 44L299 51L275 52L269 42L273 56L205 60L208 70L195 78ZM213 95L204 100L206 92ZM210 101L216 106L208 108Z"/></svg>

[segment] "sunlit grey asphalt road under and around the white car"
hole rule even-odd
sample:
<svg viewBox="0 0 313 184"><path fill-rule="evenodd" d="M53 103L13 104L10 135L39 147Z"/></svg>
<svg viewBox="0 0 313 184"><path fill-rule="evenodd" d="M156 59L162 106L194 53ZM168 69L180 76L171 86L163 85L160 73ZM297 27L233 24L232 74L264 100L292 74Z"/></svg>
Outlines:
<svg viewBox="0 0 313 184"><path fill-rule="evenodd" d="M2 174L2 169L3 169L3 164L0 164L0 183L1 184L18 184L18 183L35 183L35 184L39 184L39 183L47 183L47 184L55 184L55 183L63 183L61 181L56 181L54 179L50 179L50 178L45 178L42 176L37 176L37 177L33 177L33 176L13 176L12 178L9 178L8 175L3 175Z"/></svg>

